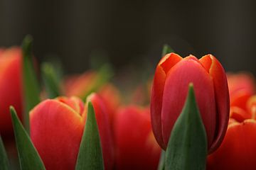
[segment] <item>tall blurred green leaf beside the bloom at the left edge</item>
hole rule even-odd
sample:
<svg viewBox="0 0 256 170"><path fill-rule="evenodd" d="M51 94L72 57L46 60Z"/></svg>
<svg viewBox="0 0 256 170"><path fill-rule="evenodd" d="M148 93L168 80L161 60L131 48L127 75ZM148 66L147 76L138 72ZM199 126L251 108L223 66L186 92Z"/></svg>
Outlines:
<svg viewBox="0 0 256 170"><path fill-rule="evenodd" d="M23 55L23 93L24 93L24 114L23 121L29 134L28 112L40 102L40 86L36 79L36 72L33 68L32 37L27 35L22 42Z"/></svg>

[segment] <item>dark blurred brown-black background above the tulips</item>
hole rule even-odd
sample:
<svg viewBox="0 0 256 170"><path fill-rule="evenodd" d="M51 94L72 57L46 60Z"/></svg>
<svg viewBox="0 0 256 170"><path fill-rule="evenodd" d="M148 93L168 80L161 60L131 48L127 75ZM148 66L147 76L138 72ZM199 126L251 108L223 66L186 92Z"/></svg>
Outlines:
<svg viewBox="0 0 256 170"><path fill-rule="evenodd" d="M116 72L154 70L167 43L183 57L211 53L227 71L256 74L256 1L0 3L0 46L20 45L29 33L36 57L60 57L66 73L90 68L95 56Z"/></svg>

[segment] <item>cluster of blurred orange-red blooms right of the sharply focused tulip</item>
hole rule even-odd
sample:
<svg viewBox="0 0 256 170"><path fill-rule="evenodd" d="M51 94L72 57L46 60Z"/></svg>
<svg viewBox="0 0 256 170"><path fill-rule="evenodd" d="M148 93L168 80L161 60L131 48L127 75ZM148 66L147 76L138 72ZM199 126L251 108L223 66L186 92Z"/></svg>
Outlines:
<svg viewBox="0 0 256 170"><path fill-rule="evenodd" d="M209 170L255 169L256 96L249 74L228 74L230 120L220 147L208 157Z"/></svg>

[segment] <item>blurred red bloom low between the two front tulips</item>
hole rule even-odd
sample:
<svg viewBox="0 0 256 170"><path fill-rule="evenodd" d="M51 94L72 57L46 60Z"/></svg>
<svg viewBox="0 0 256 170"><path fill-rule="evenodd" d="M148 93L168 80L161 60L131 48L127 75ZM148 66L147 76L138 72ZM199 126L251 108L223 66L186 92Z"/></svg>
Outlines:
<svg viewBox="0 0 256 170"><path fill-rule="evenodd" d="M150 122L149 108L120 108L114 126L117 169L157 169L161 148Z"/></svg>

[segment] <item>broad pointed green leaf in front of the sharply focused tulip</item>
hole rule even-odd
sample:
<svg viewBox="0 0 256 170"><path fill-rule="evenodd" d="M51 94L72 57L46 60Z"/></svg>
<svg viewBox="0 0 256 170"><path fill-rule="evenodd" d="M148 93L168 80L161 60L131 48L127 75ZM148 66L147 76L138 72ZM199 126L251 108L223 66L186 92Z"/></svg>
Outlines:
<svg viewBox="0 0 256 170"><path fill-rule="evenodd" d="M207 137L201 115L196 104L193 84L189 85L188 96L166 149L165 169L206 169Z"/></svg>

